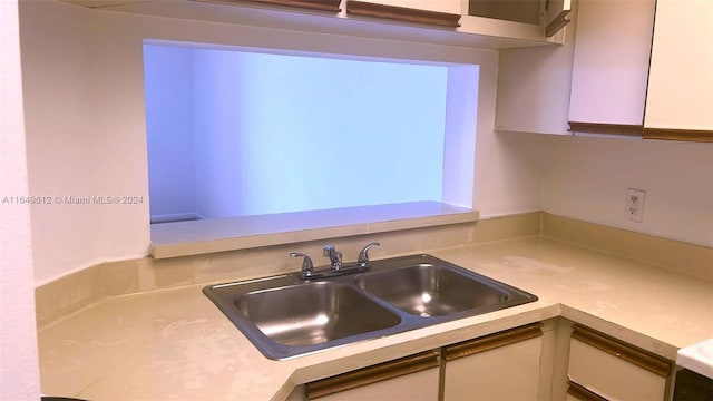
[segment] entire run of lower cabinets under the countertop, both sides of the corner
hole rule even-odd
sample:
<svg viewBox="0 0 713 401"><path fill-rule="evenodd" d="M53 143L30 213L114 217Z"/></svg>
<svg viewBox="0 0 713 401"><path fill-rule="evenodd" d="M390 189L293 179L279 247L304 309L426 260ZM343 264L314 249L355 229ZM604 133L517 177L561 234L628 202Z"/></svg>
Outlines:
<svg viewBox="0 0 713 401"><path fill-rule="evenodd" d="M295 400L660 400L673 362L566 319L506 330L295 389Z"/></svg>

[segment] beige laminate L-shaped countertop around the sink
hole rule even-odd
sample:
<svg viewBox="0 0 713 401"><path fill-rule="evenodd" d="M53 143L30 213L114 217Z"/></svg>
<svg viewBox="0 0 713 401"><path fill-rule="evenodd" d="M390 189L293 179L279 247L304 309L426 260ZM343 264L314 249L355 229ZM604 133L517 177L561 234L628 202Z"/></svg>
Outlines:
<svg viewBox="0 0 713 401"><path fill-rule="evenodd" d="M539 301L271 361L203 295L204 285L111 297L38 333L42 392L91 400L283 400L295 384L556 316L671 360L678 348L713 338L710 281L545 238L429 253Z"/></svg>

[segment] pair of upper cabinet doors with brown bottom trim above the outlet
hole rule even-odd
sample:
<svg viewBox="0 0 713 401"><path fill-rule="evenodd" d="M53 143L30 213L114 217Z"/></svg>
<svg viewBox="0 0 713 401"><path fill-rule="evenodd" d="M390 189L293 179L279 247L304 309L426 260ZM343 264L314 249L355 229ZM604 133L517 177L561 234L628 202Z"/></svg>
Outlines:
<svg viewBox="0 0 713 401"><path fill-rule="evenodd" d="M580 0L572 130L713 140L712 42L711 1Z"/></svg>

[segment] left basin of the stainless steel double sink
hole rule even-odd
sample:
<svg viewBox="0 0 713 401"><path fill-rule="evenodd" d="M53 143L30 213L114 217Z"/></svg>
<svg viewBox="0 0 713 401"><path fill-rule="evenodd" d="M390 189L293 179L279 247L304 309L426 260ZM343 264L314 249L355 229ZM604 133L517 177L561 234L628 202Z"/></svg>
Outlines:
<svg viewBox="0 0 713 401"><path fill-rule="evenodd" d="M401 317L339 280L297 274L211 285L203 293L267 358L286 360L390 333Z"/></svg>

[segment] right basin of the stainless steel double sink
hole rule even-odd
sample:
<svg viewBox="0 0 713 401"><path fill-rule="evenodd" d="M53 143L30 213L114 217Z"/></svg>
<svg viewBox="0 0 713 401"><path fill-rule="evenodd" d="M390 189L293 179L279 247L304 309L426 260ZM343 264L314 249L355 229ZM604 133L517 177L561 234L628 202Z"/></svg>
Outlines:
<svg viewBox="0 0 713 401"><path fill-rule="evenodd" d="M510 292L478 278L446 266L421 263L362 274L355 282L365 292L419 316L443 316L509 301Z"/></svg>

